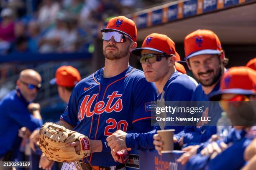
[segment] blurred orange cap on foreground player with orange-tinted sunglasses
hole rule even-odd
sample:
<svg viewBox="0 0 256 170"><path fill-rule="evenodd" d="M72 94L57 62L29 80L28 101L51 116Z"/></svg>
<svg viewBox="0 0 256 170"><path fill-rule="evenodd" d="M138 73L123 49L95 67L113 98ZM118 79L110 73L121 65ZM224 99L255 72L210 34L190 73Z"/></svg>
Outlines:
<svg viewBox="0 0 256 170"><path fill-rule="evenodd" d="M221 94L255 95L256 71L245 66L231 67L222 77L220 90L212 94L211 100L220 100Z"/></svg>

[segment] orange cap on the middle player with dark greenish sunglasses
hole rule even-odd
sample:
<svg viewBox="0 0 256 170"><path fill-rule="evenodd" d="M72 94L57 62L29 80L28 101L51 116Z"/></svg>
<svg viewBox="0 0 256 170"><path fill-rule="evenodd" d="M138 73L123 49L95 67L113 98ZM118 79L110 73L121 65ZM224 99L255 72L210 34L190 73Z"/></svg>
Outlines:
<svg viewBox="0 0 256 170"><path fill-rule="evenodd" d="M168 55L176 55L175 43L167 35L153 33L148 35L141 48L132 50L134 55L141 55L142 50L152 50L156 52L165 53Z"/></svg>

